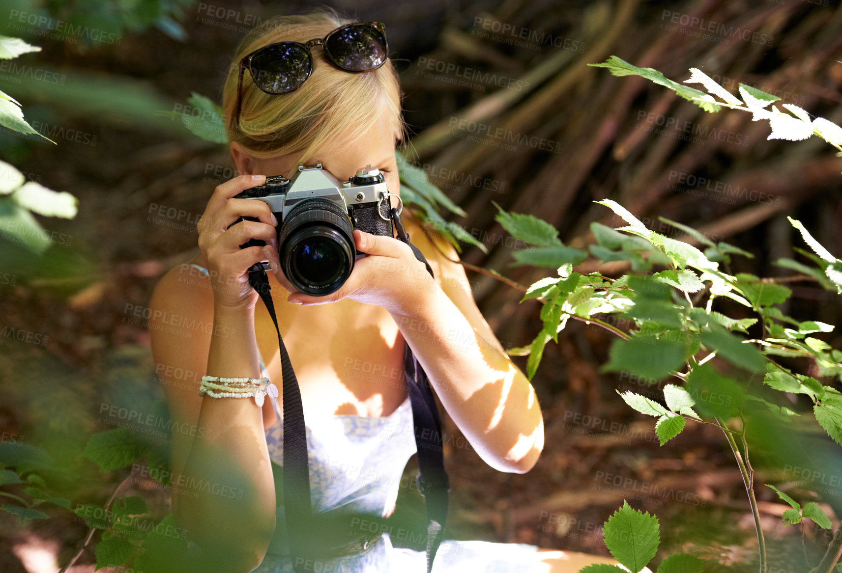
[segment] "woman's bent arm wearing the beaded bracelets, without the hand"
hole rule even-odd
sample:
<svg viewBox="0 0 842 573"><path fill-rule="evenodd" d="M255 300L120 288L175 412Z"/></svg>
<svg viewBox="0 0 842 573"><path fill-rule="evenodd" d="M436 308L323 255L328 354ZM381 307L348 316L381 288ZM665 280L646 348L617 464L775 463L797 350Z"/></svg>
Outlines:
<svg viewBox="0 0 842 573"><path fill-rule="evenodd" d="M275 527L262 411L253 399L199 395L205 374L260 377L253 314L215 305L210 280L187 265L162 279L150 307L152 354L173 419L173 517L228 570L253 570Z"/></svg>

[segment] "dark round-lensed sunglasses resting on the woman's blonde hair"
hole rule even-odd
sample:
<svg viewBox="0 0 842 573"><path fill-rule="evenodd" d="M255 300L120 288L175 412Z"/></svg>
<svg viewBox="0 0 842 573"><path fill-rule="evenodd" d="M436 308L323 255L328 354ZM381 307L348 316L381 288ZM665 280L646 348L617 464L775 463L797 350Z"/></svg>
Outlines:
<svg viewBox="0 0 842 573"><path fill-rule="evenodd" d="M324 56L345 72L369 72L386 62L386 26L381 22L345 24L324 38L301 42L276 42L254 50L240 60L237 80L237 126L242 108L242 74L248 69L254 85L265 93L289 93L301 88L313 71L310 50L321 45Z"/></svg>

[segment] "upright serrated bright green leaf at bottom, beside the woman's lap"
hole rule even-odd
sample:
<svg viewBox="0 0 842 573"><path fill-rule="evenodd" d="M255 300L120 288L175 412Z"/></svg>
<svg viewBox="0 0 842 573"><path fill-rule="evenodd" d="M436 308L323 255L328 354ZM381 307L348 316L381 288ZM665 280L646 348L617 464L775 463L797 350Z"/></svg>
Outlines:
<svg viewBox="0 0 842 573"><path fill-rule="evenodd" d="M658 551L658 529L658 517L636 511L623 500L623 507L605 522L605 546L622 565L639 571Z"/></svg>

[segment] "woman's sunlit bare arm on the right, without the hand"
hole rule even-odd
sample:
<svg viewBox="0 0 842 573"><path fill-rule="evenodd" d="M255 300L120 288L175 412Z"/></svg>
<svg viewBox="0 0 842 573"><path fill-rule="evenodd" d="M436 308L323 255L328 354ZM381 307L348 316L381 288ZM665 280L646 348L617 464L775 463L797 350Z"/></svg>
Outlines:
<svg viewBox="0 0 842 573"><path fill-rule="evenodd" d="M450 242L436 243L459 260ZM531 470L544 447L535 390L477 308L462 265L420 233L413 244L433 268L436 288L416 289L420 302L402 305L392 317L477 454L496 470Z"/></svg>

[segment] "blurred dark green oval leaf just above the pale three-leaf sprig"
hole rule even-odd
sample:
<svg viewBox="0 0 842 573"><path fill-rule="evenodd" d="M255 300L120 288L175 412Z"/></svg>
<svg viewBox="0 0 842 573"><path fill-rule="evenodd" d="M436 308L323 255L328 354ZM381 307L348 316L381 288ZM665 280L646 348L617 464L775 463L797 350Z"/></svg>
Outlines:
<svg viewBox="0 0 842 573"><path fill-rule="evenodd" d="M663 379L685 363L685 344L638 336L616 340L611 345L608 363L602 371L630 372L651 379Z"/></svg>

